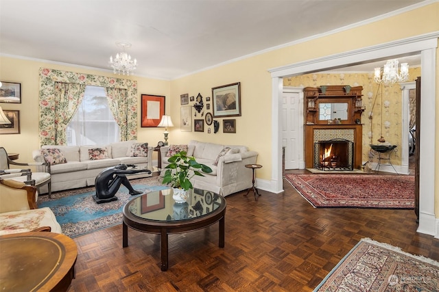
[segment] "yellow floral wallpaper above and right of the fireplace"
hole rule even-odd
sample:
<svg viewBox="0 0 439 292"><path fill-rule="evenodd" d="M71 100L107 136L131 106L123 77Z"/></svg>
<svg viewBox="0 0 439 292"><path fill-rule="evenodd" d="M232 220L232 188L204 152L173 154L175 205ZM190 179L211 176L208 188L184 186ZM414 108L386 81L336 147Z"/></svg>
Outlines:
<svg viewBox="0 0 439 292"><path fill-rule="evenodd" d="M409 68L409 81L420 77L420 67ZM373 81L373 72L340 72L329 74L306 74L283 79L284 86L319 87L320 85L363 86L363 106L366 107L361 116L363 124L363 157L369 161L370 144L379 144L381 135L385 143L396 145L392 154L392 163L401 165L402 129L402 92L398 83L389 86L378 86ZM373 153L372 153L373 154ZM372 157L373 158L373 157Z"/></svg>

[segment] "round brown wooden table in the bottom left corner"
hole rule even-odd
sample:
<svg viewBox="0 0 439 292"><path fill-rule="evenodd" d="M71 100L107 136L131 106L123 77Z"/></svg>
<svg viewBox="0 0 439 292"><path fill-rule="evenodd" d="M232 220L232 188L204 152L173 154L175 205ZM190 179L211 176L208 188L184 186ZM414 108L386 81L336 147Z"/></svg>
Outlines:
<svg viewBox="0 0 439 292"><path fill-rule="evenodd" d="M65 235L50 232L0 236L0 291L67 291L78 250Z"/></svg>

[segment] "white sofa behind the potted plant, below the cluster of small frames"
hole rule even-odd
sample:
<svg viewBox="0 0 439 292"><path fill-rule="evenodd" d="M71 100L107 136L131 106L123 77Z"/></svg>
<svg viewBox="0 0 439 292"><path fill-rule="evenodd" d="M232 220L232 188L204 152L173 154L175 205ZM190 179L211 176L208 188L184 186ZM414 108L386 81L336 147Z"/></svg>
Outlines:
<svg viewBox="0 0 439 292"><path fill-rule="evenodd" d="M162 168L169 164L167 161L169 147L163 146L160 149ZM214 165L219 153L226 147L230 150L219 157L217 165ZM252 170L245 165L256 163L258 152L248 150L247 146L220 145L192 140L187 145L187 155L195 157L198 163L208 165L213 170L204 176L193 176L191 182L195 188L228 196L252 187Z"/></svg>

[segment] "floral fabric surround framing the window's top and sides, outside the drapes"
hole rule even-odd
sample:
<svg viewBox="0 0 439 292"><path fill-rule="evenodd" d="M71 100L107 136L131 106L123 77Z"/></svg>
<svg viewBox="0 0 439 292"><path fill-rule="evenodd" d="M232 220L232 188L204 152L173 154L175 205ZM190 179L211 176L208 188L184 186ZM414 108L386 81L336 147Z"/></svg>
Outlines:
<svg viewBox="0 0 439 292"><path fill-rule="evenodd" d="M137 139L137 81L129 79L119 79L104 77L99 75L89 75L62 70L40 68L40 118L39 118L39 137L40 145L56 145L58 138L58 123L56 117L56 83L74 83L78 85L94 85L103 88L119 88L126 90L126 94L117 94L115 98L125 96L126 101L126 131L121 135L121 141ZM111 105L110 105L111 106ZM78 107L78 104L76 105ZM122 133L122 131L121 131ZM64 134L65 135L65 131ZM65 144L64 140L59 141L58 145Z"/></svg>

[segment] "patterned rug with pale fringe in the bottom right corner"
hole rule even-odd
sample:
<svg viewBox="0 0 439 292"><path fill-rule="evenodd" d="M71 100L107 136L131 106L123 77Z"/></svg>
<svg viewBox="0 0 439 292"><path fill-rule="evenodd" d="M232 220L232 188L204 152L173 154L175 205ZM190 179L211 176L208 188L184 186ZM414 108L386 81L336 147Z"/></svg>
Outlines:
<svg viewBox="0 0 439 292"><path fill-rule="evenodd" d="M439 291L439 263L361 239L314 291Z"/></svg>

